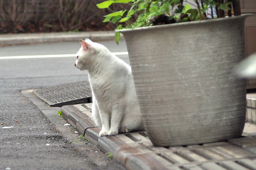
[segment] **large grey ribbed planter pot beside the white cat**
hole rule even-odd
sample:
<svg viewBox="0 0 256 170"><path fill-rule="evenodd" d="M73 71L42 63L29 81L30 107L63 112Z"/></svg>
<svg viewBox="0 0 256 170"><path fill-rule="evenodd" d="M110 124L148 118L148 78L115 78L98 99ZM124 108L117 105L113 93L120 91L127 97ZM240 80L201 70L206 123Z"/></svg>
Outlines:
<svg viewBox="0 0 256 170"><path fill-rule="evenodd" d="M126 40L145 130L156 146L241 136L248 15L120 30Z"/></svg>

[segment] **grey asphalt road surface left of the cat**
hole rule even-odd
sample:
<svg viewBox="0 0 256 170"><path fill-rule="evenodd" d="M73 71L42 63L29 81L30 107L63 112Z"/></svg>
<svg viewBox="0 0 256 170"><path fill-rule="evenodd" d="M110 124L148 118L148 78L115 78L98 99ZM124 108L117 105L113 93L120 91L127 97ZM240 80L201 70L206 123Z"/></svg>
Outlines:
<svg viewBox="0 0 256 170"><path fill-rule="evenodd" d="M119 46L112 41L101 43L111 52L127 51L124 41ZM79 41L0 47L0 58L76 54L79 48ZM127 55L118 57L128 62ZM31 91L24 91L87 80L87 71L75 68L75 60L76 56L0 59L0 170L123 169L64 126L57 114L60 108L50 108Z"/></svg>

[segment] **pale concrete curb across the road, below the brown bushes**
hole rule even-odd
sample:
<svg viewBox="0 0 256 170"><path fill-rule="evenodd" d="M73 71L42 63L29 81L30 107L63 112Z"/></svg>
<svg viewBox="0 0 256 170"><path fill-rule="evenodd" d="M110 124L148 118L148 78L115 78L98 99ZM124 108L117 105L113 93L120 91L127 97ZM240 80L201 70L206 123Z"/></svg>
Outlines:
<svg viewBox="0 0 256 170"><path fill-rule="evenodd" d="M90 38L92 41L115 40L115 31L3 34L0 35L0 46L40 42L76 41L85 38ZM121 35L120 39L122 38L123 36Z"/></svg>

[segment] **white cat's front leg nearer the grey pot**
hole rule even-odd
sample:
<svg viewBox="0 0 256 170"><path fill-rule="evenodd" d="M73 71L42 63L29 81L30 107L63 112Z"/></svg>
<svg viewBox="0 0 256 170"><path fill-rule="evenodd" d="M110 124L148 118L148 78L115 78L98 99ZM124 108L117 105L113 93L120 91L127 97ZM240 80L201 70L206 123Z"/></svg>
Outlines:
<svg viewBox="0 0 256 170"><path fill-rule="evenodd" d="M120 105L120 103L115 103L113 105L112 113L111 113L111 127L108 131L108 136L113 136L118 134L123 111L124 111L124 106Z"/></svg>

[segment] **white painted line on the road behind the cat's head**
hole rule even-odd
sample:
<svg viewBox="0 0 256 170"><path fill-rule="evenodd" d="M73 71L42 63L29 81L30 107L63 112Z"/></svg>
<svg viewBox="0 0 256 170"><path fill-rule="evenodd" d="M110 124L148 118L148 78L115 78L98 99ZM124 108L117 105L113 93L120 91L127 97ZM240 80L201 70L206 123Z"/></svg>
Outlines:
<svg viewBox="0 0 256 170"><path fill-rule="evenodd" d="M128 52L114 52L113 54L128 55ZM76 57L76 54L55 54L55 55L34 55L34 56L6 56L0 59L29 59L29 58L55 58L55 57Z"/></svg>

